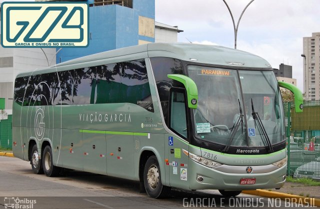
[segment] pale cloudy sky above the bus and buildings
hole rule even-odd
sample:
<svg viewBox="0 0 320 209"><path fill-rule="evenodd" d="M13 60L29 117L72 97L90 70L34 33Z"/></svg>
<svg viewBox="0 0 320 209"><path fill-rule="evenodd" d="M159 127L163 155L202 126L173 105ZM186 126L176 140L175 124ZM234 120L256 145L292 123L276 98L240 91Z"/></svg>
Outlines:
<svg viewBox="0 0 320 209"><path fill-rule="evenodd" d="M249 1L226 0L235 24ZM320 0L254 0L239 23L237 49L265 58L273 68L292 65L303 90L302 37L320 32L319 11ZM155 21L182 29L178 42L234 47L232 20L222 0L155 0Z"/></svg>

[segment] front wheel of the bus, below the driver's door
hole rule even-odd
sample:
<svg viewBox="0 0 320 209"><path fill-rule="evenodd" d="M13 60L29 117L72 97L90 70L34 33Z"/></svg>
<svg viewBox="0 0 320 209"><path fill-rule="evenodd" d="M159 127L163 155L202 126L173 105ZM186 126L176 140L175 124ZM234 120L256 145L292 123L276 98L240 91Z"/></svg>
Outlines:
<svg viewBox="0 0 320 209"><path fill-rule="evenodd" d="M150 156L145 162L143 182L146 193L153 198L164 197L171 189L171 187L162 184L160 166L154 155Z"/></svg>

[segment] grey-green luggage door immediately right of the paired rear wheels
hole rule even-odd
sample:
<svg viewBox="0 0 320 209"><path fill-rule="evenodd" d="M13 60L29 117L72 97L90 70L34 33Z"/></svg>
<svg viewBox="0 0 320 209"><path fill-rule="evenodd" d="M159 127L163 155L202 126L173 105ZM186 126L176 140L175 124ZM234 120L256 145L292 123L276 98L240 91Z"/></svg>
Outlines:
<svg viewBox="0 0 320 209"><path fill-rule="evenodd" d="M60 156L62 166L82 170L82 133L78 129L62 129ZM93 162L92 162L93 163Z"/></svg>

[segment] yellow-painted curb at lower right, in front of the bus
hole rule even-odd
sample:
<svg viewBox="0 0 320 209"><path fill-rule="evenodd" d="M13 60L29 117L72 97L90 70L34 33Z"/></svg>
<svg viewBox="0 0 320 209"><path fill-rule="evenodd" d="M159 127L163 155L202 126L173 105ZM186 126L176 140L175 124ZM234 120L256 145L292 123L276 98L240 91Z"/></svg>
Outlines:
<svg viewBox="0 0 320 209"><path fill-rule="evenodd" d="M244 190L242 193L253 194L257 196L265 196L265 197L277 197L280 199L289 199L291 202L308 204L308 206L318 206L320 207L320 199L306 196L299 196L294 194L281 193L277 191L267 191L264 189L256 189L256 190Z"/></svg>

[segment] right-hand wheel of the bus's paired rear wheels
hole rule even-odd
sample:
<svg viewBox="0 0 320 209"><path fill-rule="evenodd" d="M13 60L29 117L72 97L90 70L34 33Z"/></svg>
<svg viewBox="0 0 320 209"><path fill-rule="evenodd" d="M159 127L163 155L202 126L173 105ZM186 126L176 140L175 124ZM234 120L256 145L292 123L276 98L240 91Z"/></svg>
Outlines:
<svg viewBox="0 0 320 209"><path fill-rule="evenodd" d="M46 145L42 153L42 166L46 176L57 176L60 171L60 167L54 166L52 161L52 150L49 145Z"/></svg>

